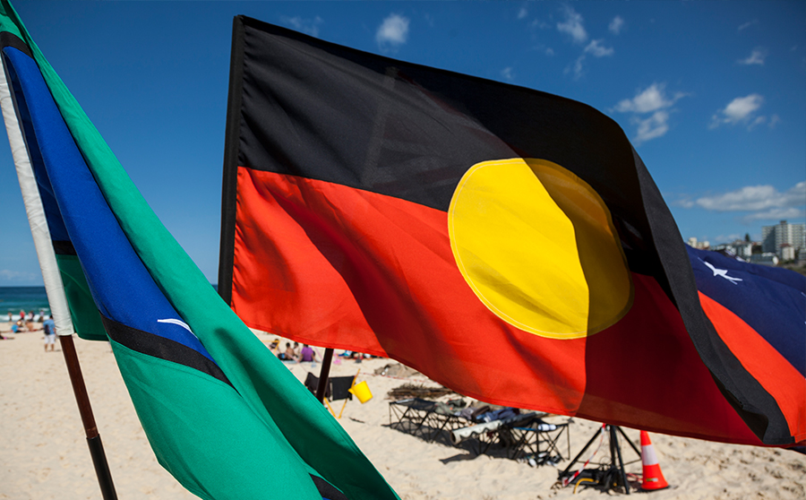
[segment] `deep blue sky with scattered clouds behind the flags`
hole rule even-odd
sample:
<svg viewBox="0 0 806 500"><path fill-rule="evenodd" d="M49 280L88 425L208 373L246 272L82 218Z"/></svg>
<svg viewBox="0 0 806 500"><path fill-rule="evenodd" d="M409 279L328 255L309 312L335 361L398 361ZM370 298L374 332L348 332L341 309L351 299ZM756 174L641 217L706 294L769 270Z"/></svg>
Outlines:
<svg viewBox="0 0 806 500"><path fill-rule="evenodd" d="M806 2L14 2L211 281L232 18L547 91L622 126L682 237L804 222ZM41 275L0 146L0 286Z"/></svg>

